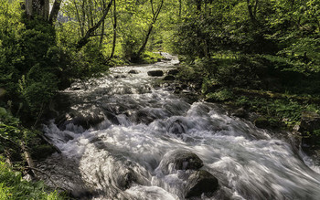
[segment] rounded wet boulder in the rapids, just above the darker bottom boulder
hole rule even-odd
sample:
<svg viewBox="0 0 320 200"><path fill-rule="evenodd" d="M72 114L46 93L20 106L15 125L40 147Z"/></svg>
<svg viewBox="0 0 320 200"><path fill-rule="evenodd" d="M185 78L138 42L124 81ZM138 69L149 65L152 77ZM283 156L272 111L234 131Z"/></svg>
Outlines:
<svg viewBox="0 0 320 200"><path fill-rule="evenodd" d="M164 174L172 174L176 170L198 170L203 166L203 162L196 153L185 150L166 153L159 168Z"/></svg>

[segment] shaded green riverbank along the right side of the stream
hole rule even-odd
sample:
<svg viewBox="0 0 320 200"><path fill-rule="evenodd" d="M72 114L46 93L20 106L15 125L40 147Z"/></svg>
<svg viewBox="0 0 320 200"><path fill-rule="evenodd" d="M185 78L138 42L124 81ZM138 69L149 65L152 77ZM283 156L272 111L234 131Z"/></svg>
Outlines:
<svg viewBox="0 0 320 200"><path fill-rule="evenodd" d="M230 115L259 128L292 132L294 145L319 161L320 96L315 75L296 74L300 78L290 85L283 80L288 72L269 71L263 66L265 60L182 60L176 75L180 85L194 89L203 100L224 105ZM299 81L303 82L300 86Z"/></svg>

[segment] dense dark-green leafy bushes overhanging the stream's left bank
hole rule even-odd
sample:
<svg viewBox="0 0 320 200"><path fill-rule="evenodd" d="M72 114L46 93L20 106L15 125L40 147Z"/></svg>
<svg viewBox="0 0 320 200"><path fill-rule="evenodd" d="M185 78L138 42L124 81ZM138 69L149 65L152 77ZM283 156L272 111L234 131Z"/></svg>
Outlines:
<svg viewBox="0 0 320 200"><path fill-rule="evenodd" d="M1 0L0 88L6 91L2 100L11 100L12 110L24 122L35 121L58 89L73 79L90 79L108 70L97 43L77 51L74 36L62 32L72 33L71 26L58 30L56 34L55 26L41 17L28 20L18 2Z"/></svg>

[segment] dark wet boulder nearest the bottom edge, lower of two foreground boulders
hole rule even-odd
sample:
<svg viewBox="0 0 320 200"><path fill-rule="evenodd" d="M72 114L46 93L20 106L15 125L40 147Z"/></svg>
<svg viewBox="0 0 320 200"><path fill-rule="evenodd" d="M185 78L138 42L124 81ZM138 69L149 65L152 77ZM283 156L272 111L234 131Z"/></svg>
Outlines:
<svg viewBox="0 0 320 200"><path fill-rule="evenodd" d="M205 195L211 196L219 187L218 179L207 171L199 170L194 172L187 179L185 197Z"/></svg>

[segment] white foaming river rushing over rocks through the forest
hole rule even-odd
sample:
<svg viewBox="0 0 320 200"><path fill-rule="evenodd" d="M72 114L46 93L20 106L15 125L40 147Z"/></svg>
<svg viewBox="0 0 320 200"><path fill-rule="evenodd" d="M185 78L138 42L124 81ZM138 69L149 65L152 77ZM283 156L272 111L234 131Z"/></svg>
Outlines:
<svg viewBox="0 0 320 200"><path fill-rule="evenodd" d="M162 168L170 153L185 151L219 181L211 195L191 199L320 199L319 167L304 153L147 75L176 68L171 58L111 68L106 77L62 91L66 117L44 128L61 153L37 163L50 176L42 174L45 182L78 199L185 199L192 170Z"/></svg>

